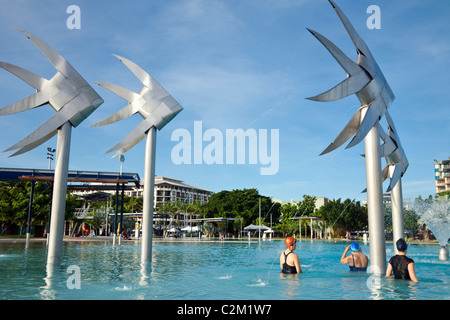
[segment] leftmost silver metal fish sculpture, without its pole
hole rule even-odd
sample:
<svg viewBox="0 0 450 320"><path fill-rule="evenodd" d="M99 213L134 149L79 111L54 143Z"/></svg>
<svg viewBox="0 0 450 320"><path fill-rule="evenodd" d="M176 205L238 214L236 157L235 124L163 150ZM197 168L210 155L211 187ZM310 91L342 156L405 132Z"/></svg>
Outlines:
<svg viewBox="0 0 450 320"><path fill-rule="evenodd" d="M19 31L41 50L57 72L48 80L16 65L0 62L0 67L36 89L36 93L0 109L0 115L22 112L44 104L49 104L56 113L23 140L6 149L5 151L20 149L10 157L32 150L49 140L67 121L77 127L103 103L103 99L66 59L38 37Z"/></svg>

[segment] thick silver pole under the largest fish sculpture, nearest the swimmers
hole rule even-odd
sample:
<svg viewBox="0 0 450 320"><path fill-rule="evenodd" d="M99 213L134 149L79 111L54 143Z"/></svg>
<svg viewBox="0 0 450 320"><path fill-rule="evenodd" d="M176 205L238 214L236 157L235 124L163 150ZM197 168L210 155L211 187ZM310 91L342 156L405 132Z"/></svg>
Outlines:
<svg viewBox="0 0 450 320"><path fill-rule="evenodd" d="M364 142L366 151L370 265L372 273L384 274L386 272L386 243L384 238L383 180L381 178L379 134L376 126L369 131Z"/></svg>

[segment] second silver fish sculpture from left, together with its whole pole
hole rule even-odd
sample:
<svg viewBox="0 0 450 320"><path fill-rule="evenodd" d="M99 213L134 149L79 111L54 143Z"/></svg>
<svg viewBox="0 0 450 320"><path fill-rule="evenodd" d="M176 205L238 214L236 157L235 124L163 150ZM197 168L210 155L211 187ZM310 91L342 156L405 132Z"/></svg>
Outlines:
<svg viewBox="0 0 450 320"><path fill-rule="evenodd" d="M124 57L115 56L133 72L143 87L139 93L135 93L111 83L98 82L100 86L127 100L128 105L94 126L110 124L136 113L144 118L133 131L108 151L118 150L113 157L121 155L146 138L141 240L141 264L144 272L152 258L156 130L161 130L183 108L141 67Z"/></svg>

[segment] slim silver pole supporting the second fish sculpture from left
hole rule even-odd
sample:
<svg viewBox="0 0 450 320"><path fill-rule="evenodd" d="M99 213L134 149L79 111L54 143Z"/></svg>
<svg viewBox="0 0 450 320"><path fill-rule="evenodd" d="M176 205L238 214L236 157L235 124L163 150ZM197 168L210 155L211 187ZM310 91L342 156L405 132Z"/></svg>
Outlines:
<svg viewBox="0 0 450 320"><path fill-rule="evenodd" d="M156 128L152 126L146 133L145 173L144 173L144 208L142 213L141 262L145 265L152 258L153 239L153 202L155 193L155 150Z"/></svg>

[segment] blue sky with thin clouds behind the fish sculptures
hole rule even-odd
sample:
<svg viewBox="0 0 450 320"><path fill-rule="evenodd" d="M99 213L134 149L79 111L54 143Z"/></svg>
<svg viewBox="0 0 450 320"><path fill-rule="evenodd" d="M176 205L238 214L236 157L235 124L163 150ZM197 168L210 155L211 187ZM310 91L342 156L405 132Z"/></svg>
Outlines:
<svg viewBox="0 0 450 320"><path fill-rule="evenodd" d="M395 94L389 113L409 161L402 179L403 197L434 195L434 159L450 157L449 1L336 2L367 43ZM106 151L142 120L135 114L90 127L127 104L94 82L135 92L142 87L113 56L117 54L146 70L183 107L157 132L156 175L213 192L256 188L261 195L283 201L301 200L303 195L366 200L361 193L366 187L364 142L319 156L356 112L358 99L355 95L333 102L306 99L346 77L306 28L326 36L352 60L357 58L328 1L0 0L0 4L0 61L47 79L54 75L50 62L18 31L26 30L67 59L105 101L72 130L69 170L118 172L119 159ZM70 5L78 6L79 15L67 13ZM379 29L368 28L371 5L380 9ZM71 28L74 22L79 22L79 29ZM0 107L33 92L0 69ZM53 113L44 105L0 116L0 150L23 139ZM244 148L247 153L258 150L256 160L247 156L241 164L226 161L230 151L225 148L226 132L237 129L256 133L258 144ZM261 140L264 130L266 144ZM173 138L177 132L191 137L189 162L174 158L174 149L182 142ZM205 132L215 134L214 146L223 145L222 164L209 164L202 153L198 153L201 163L194 163L195 152L210 151L212 141L203 136ZM278 145L275 138L271 140L272 132L278 133ZM194 146L194 140L202 143ZM183 146L187 143L183 138ZM269 154L273 147L278 155L275 174L261 174L261 168L268 167L261 145ZM56 136L22 155L0 152L0 167L48 169L47 147L56 148ZM124 154L123 171L142 178L144 154L145 141L141 141ZM220 152L214 155L219 157ZM272 157L275 166L274 162ZM382 167L385 164L382 159ZM385 181L383 189L387 186Z"/></svg>

